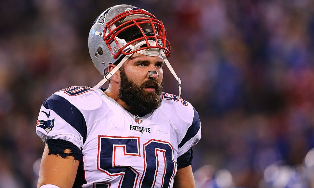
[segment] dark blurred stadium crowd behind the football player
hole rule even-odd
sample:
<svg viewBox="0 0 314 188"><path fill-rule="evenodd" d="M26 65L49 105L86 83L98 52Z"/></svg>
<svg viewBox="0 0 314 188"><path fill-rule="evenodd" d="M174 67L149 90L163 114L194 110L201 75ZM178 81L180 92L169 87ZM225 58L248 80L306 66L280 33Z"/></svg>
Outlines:
<svg viewBox="0 0 314 188"><path fill-rule="evenodd" d="M197 187L314 187L313 1L11 0L0 2L0 188L36 186L40 106L102 79L88 33L116 4L164 22L181 97L202 122ZM166 69L164 91L177 94Z"/></svg>

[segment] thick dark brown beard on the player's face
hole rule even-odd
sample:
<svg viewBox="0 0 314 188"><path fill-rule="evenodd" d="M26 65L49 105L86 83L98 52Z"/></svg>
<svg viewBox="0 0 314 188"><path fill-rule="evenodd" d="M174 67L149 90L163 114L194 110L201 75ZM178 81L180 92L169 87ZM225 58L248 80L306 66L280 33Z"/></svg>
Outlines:
<svg viewBox="0 0 314 188"><path fill-rule="evenodd" d="M119 98L130 107L131 112L138 116L144 116L160 107L163 83L160 84L157 80L148 80L137 86L126 76L123 67L120 69L120 75ZM151 85L155 91L145 91L144 88Z"/></svg>

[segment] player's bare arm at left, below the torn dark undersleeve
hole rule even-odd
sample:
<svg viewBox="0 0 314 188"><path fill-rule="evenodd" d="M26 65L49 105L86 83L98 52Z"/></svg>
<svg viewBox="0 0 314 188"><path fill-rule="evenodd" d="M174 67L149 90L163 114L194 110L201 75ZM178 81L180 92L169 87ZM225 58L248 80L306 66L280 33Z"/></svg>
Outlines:
<svg viewBox="0 0 314 188"><path fill-rule="evenodd" d="M69 153L66 150L64 152ZM41 158L37 188L46 184L57 185L60 188L71 188L74 184L79 161L75 160L73 156L62 158L53 154L48 155L48 153L49 149L46 144Z"/></svg>

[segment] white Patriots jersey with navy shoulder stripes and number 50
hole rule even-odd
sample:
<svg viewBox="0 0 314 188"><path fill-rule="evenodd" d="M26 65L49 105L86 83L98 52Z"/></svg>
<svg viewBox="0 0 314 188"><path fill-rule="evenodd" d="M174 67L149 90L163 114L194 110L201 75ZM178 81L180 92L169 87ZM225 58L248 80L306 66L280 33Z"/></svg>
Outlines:
<svg viewBox="0 0 314 188"><path fill-rule="evenodd" d="M176 160L198 143L201 125L189 102L161 97L158 109L138 117L101 89L72 86L46 99L36 133L82 150L83 188L172 187Z"/></svg>

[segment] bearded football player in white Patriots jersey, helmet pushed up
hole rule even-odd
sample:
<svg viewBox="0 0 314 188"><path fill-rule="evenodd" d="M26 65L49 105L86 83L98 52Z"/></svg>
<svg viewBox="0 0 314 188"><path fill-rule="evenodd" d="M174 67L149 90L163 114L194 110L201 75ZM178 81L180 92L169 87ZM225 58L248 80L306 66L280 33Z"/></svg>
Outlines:
<svg viewBox="0 0 314 188"><path fill-rule="evenodd" d="M104 79L57 91L42 104L38 187L195 187L191 147L201 125L180 98L163 23L144 9L117 5L96 18L88 42ZM178 96L162 92L164 64Z"/></svg>

